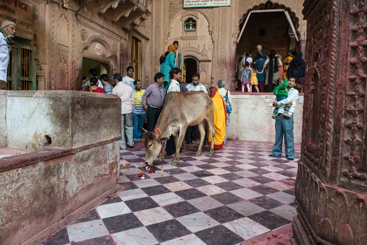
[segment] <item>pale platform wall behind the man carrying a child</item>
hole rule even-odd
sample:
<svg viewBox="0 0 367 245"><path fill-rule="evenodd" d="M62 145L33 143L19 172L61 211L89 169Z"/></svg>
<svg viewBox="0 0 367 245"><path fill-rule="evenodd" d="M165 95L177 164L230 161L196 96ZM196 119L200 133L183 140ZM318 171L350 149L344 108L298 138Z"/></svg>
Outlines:
<svg viewBox="0 0 367 245"><path fill-rule="evenodd" d="M234 92L228 139L274 142L275 120L271 117L276 98L267 93ZM303 94L299 94L294 113L294 143L301 143Z"/></svg>

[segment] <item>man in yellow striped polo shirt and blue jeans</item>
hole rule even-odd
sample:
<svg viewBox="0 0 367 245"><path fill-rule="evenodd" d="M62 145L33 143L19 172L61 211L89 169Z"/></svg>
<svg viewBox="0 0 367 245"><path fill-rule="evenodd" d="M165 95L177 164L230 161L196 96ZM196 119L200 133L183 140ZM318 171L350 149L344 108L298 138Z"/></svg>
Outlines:
<svg viewBox="0 0 367 245"><path fill-rule="evenodd" d="M144 125L145 120L145 111L143 108L143 105L140 103L141 98L145 92L145 89L141 89L141 81L135 80L134 81L134 100L135 100L135 106L134 110L132 111L132 117L134 118L134 129L132 131L132 138L134 140L134 143L141 141L141 135L142 135L142 127Z"/></svg>

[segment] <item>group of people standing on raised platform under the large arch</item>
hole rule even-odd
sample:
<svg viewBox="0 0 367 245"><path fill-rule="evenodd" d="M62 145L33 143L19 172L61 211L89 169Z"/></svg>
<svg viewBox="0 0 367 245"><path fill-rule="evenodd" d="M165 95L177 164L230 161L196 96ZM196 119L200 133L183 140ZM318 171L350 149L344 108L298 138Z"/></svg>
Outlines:
<svg viewBox="0 0 367 245"><path fill-rule="evenodd" d="M253 58L250 51L239 58L236 73L237 90L252 92L255 89L257 92L273 92L279 79L291 76L296 78L295 89L302 92L305 77L302 52L290 50L283 64L281 56L277 55L275 50L266 54L262 51L261 45L258 45Z"/></svg>

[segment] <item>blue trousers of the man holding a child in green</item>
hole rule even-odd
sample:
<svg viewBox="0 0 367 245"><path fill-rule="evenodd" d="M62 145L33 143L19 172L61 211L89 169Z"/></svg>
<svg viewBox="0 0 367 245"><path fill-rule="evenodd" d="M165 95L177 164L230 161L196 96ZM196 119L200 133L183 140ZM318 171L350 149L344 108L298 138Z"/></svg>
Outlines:
<svg viewBox="0 0 367 245"><path fill-rule="evenodd" d="M275 144L273 146L273 156L279 157L283 145L287 158L294 158L294 136L293 136L293 115L288 117L277 116L275 119Z"/></svg>

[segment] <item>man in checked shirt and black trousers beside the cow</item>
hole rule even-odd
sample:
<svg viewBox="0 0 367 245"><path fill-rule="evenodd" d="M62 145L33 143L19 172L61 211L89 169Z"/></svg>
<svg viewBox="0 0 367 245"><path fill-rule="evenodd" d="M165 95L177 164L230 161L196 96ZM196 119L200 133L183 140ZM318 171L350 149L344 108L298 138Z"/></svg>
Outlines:
<svg viewBox="0 0 367 245"><path fill-rule="evenodd" d="M146 122L148 123L149 132L153 132L154 127L156 127L158 117L163 108L164 97L166 96L162 86L164 74L157 73L154 76L154 82L145 89L141 98L141 104L146 111Z"/></svg>

